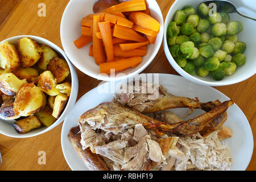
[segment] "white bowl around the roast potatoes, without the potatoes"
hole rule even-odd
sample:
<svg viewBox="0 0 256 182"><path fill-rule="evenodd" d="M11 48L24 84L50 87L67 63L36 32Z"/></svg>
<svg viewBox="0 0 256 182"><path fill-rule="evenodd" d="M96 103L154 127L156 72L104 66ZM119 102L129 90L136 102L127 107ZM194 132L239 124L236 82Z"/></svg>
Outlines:
<svg viewBox="0 0 256 182"><path fill-rule="evenodd" d="M61 59L64 59L67 61L68 66L69 66L69 70L71 72L71 81L72 81L72 85L71 85L71 94L68 100L67 105L65 106L65 109L63 111L63 113L60 115L60 117L49 127L40 127L39 129L34 129L29 131L26 134L19 134L15 131L13 125L3 122L0 119L0 133L3 135L6 135L8 137L14 137L14 138L28 138L28 137L34 137L36 135L40 135L43 133L46 133L47 131L53 129L54 127L56 127L57 125L59 125L64 119L65 117L67 117L67 114L69 113L69 111L73 108L73 106L75 105L76 102L76 98L77 98L77 93L78 93L78 78L77 78L77 74L76 74L76 70L73 67L72 63L68 60L68 57L65 55L64 51L56 46L56 44L53 44L52 42L49 42L49 40L40 38L38 36L31 36L31 35L20 35L20 36L14 36L12 38L8 38L6 40L3 40L1 43L8 41L11 44L14 44L15 46L17 46L17 42L19 39L24 38L24 37L28 37L31 38L33 40L35 40L37 43L40 44L46 44L47 46L51 47L53 50L55 50Z"/></svg>

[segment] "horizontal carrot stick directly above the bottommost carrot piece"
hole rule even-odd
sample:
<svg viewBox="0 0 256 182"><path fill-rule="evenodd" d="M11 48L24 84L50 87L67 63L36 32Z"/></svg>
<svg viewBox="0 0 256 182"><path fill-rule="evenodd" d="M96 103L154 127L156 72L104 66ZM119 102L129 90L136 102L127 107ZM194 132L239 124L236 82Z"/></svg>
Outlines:
<svg viewBox="0 0 256 182"><path fill-rule="evenodd" d="M114 46L114 56L117 57L135 57L144 56L147 54L147 50L133 49L130 51L122 51L120 47Z"/></svg>

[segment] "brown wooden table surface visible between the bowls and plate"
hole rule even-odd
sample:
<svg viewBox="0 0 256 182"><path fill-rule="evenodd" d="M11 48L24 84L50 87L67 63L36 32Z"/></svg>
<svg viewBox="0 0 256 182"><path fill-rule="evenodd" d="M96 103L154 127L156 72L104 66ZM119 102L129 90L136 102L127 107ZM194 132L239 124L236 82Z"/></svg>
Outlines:
<svg viewBox="0 0 256 182"><path fill-rule="evenodd" d="M46 17L38 16L38 4L45 3ZM1 0L0 1L0 41L16 35L36 35L48 39L61 47L60 21L69 0ZM164 19L174 0L157 0ZM99 80L85 75L76 69L79 77L77 99L95 88ZM154 61L143 73L169 73L178 75L168 62L163 46ZM256 140L256 76L229 86L220 86L220 90L245 113L250 122ZM0 150L3 163L0 170L71 170L65 162L61 150L60 136L62 123L55 129L37 137L16 139L0 134ZM255 142L254 142L255 144ZM46 164L38 164L39 151L46 152ZM254 152L247 170L256 170Z"/></svg>

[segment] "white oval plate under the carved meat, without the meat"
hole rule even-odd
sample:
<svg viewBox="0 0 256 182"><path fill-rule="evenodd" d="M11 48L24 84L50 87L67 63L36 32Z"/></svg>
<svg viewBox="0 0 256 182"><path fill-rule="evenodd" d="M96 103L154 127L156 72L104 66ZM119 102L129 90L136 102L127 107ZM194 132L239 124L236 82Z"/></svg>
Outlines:
<svg viewBox="0 0 256 182"><path fill-rule="evenodd" d="M142 74L143 75L143 74ZM141 75L141 76L142 76ZM150 76L147 74L144 76ZM200 102L208 102L220 100L221 102L229 100L227 96L219 92L218 90L210 87L195 84L194 82L188 81L181 76L176 75L166 75L166 74L153 74L152 82L158 78L159 75L159 84L167 88L168 92L176 96L185 96L189 98L198 97ZM103 90L115 89L114 85L118 85L118 82L105 82L102 84ZM72 127L77 126L77 119L85 111L92 109L101 102L111 101L114 94L110 93L101 93L102 89L94 88L90 92L86 93L76 102L75 107L70 112L71 114L65 118L63 123L63 128L61 131L61 147L63 149L63 154L65 159L72 170L88 170L82 160L77 156L76 151L72 147L72 144L68 140L68 133ZM174 113L180 117L186 113L188 109L173 109ZM203 111L196 109L192 115L189 115L189 118L195 117L195 115L201 114ZM245 114L242 110L236 105L232 105L227 110L228 119L225 122L224 126L228 126L233 130L233 137L226 139L225 142L230 147L231 154L233 156L234 164L232 170L243 171L247 168L251 155L253 154L253 134L249 122L247 121Z"/></svg>

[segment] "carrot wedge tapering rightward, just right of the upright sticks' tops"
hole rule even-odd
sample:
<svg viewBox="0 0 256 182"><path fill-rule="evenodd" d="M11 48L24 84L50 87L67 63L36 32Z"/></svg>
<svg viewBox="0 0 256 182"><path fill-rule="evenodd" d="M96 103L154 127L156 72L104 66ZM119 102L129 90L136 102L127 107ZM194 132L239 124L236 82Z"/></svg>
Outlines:
<svg viewBox="0 0 256 182"><path fill-rule="evenodd" d="M146 38L135 32L133 29L119 26L118 24L115 24L114 26L113 36L125 40L134 40L136 42L145 42L147 40Z"/></svg>

